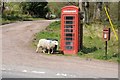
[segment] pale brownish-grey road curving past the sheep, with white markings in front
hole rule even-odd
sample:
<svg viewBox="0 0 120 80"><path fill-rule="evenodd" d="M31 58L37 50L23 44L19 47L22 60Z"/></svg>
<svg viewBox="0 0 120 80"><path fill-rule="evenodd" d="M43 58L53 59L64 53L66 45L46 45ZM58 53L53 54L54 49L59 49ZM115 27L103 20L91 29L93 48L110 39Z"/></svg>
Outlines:
<svg viewBox="0 0 120 80"><path fill-rule="evenodd" d="M118 78L117 63L35 53L30 45L34 34L51 22L25 21L0 26L3 78Z"/></svg>

